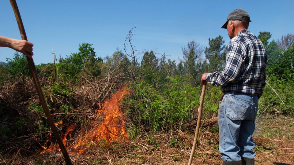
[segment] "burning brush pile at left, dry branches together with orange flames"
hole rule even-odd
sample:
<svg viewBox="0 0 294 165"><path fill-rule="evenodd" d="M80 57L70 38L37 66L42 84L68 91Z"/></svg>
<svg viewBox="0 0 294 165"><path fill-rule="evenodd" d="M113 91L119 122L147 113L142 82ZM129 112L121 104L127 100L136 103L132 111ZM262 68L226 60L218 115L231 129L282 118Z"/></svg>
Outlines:
<svg viewBox="0 0 294 165"><path fill-rule="evenodd" d="M130 93L126 87L114 90L113 84L95 78L74 86L51 83L46 78L40 82L70 154L80 155L93 145L111 147L113 141L128 140L126 108L120 108ZM1 86L0 133L1 161L5 160L3 154L9 157L13 153L60 153L31 79Z"/></svg>

